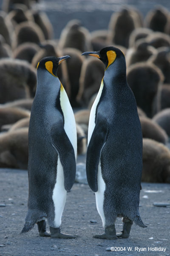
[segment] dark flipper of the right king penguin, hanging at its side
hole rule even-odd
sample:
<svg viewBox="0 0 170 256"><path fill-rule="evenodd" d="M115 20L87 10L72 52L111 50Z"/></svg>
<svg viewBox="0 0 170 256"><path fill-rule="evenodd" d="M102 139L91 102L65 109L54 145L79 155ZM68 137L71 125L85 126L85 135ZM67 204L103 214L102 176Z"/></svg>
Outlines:
<svg viewBox="0 0 170 256"><path fill-rule="evenodd" d="M108 122L105 117L98 113L96 118L96 125L91 135L91 140L87 149L86 157L86 174L88 185L97 192L97 172L99 166L99 158L103 145L106 142L108 135Z"/></svg>

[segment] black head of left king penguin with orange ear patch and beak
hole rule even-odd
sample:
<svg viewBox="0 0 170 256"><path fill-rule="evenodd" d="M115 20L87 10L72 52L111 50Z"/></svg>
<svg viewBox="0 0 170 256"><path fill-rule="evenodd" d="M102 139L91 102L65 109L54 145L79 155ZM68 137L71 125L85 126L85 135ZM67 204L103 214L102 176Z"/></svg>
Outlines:
<svg viewBox="0 0 170 256"><path fill-rule="evenodd" d="M59 58L53 56L42 58L37 64L37 72L38 70L47 70L52 76L57 77L57 69L59 64L67 58L71 57L66 55Z"/></svg>

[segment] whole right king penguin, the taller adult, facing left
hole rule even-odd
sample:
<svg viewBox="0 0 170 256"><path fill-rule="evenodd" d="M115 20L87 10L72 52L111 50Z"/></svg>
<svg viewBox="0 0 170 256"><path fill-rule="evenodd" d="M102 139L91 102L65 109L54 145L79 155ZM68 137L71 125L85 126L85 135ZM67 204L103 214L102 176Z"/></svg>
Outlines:
<svg viewBox="0 0 170 256"><path fill-rule="evenodd" d="M88 126L86 173L105 228L104 234L94 237L128 238L133 221L146 226L139 215L142 131L136 100L126 80L125 55L116 47L82 55L95 56L105 64ZM116 236L117 217L123 217L123 230Z"/></svg>

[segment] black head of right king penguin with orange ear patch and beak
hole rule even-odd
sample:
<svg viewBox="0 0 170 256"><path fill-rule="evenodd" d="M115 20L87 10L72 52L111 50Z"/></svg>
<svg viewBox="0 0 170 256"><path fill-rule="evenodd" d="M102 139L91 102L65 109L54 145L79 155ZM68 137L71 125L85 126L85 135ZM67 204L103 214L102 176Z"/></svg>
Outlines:
<svg viewBox="0 0 170 256"><path fill-rule="evenodd" d="M118 58L124 58L124 53L116 47L105 47L98 52L83 52L82 55L91 55L99 58L104 64L106 69ZM106 70L105 69L105 70Z"/></svg>

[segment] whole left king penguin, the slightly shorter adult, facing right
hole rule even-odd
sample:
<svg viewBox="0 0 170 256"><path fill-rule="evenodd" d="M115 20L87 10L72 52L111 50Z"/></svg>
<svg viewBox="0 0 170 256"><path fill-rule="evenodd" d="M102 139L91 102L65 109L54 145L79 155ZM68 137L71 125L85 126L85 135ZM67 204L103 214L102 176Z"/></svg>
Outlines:
<svg viewBox="0 0 170 256"><path fill-rule="evenodd" d="M48 220L52 238L60 233L67 191L76 175L77 131L68 96L57 77L59 64L70 56L45 57L37 65L37 90L28 132L28 213L21 233L37 223L40 236Z"/></svg>

